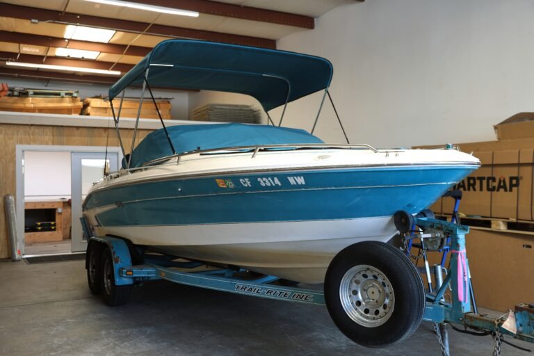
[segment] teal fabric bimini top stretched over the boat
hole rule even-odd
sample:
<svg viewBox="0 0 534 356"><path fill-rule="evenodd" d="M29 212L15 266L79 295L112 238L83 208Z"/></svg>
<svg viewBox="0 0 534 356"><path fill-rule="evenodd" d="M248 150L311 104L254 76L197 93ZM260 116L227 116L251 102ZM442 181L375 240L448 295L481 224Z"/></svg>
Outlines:
<svg viewBox="0 0 534 356"><path fill-rule="evenodd" d="M321 57L274 49L197 40L165 40L109 89L109 99L127 86L237 92L256 98L266 111L323 90L332 63ZM289 93L289 97L288 97Z"/></svg>

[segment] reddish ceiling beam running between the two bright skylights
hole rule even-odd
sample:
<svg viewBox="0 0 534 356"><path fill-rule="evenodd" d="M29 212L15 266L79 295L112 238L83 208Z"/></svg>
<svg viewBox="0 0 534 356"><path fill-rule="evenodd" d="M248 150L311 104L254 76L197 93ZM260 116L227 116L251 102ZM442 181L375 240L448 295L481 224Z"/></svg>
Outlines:
<svg viewBox="0 0 534 356"><path fill-rule="evenodd" d="M150 51L150 48L140 46L127 47L124 44L89 42L79 40L66 41L65 38L9 31L0 31L0 40L1 42L31 44L33 46L84 49L86 51L99 51L108 54L126 54L129 56L140 57L146 56Z"/></svg>

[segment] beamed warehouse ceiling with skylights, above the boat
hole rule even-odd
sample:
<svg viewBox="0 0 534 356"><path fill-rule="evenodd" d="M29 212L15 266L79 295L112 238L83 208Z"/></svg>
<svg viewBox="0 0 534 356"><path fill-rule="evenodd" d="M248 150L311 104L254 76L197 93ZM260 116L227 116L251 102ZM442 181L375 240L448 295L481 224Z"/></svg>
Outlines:
<svg viewBox="0 0 534 356"><path fill-rule="evenodd" d="M313 31L316 17L350 0L129 1L199 15L170 15L86 0L1 1L0 76L115 83L162 40L193 38L276 48L276 40L296 31ZM104 43L98 42L102 38L65 39L67 26L72 25L115 32ZM65 49L92 51L95 58L61 56ZM15 67L6 61L115 70L120 74Z"/></svg>

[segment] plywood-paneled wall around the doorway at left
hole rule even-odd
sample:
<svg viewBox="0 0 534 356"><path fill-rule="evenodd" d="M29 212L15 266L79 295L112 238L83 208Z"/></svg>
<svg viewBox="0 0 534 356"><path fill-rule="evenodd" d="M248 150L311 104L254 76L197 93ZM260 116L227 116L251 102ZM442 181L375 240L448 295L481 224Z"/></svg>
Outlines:
<svg viewBox="0 0 534 356"><path fill-rule="evenodd" d="M136 145L152 131L139 130ZM120 132L128 152L133 130ZM114 128L0 124L0 259L10 257L3 196L15 195L15 145L106 146L106 142L109 146L119 145Z"/></svg>

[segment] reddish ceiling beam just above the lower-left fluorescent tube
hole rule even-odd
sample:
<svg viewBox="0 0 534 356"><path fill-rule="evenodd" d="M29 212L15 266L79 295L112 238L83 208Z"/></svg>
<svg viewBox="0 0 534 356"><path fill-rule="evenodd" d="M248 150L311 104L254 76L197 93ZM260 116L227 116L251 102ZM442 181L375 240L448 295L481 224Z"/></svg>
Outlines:
<svg viewBox="0 0 534 356"><path fill-rule="evenodd" d="M13 62L32 63L32 64L47 64L47 65L66 65L67 67L82 67L92 68L97 70L109 70L113 63L103 62L102 60L84 60L84 59L71 59L54 56L35 56L33 54L16 54L13 52L1 52L0 58L3 60L11 60ZM113 66L113 70L119 70L122 73L126 73L133 65L117 63ZM76 72L73 70L72 72ZM118 76L115 76L118 78Z"/></svg>

